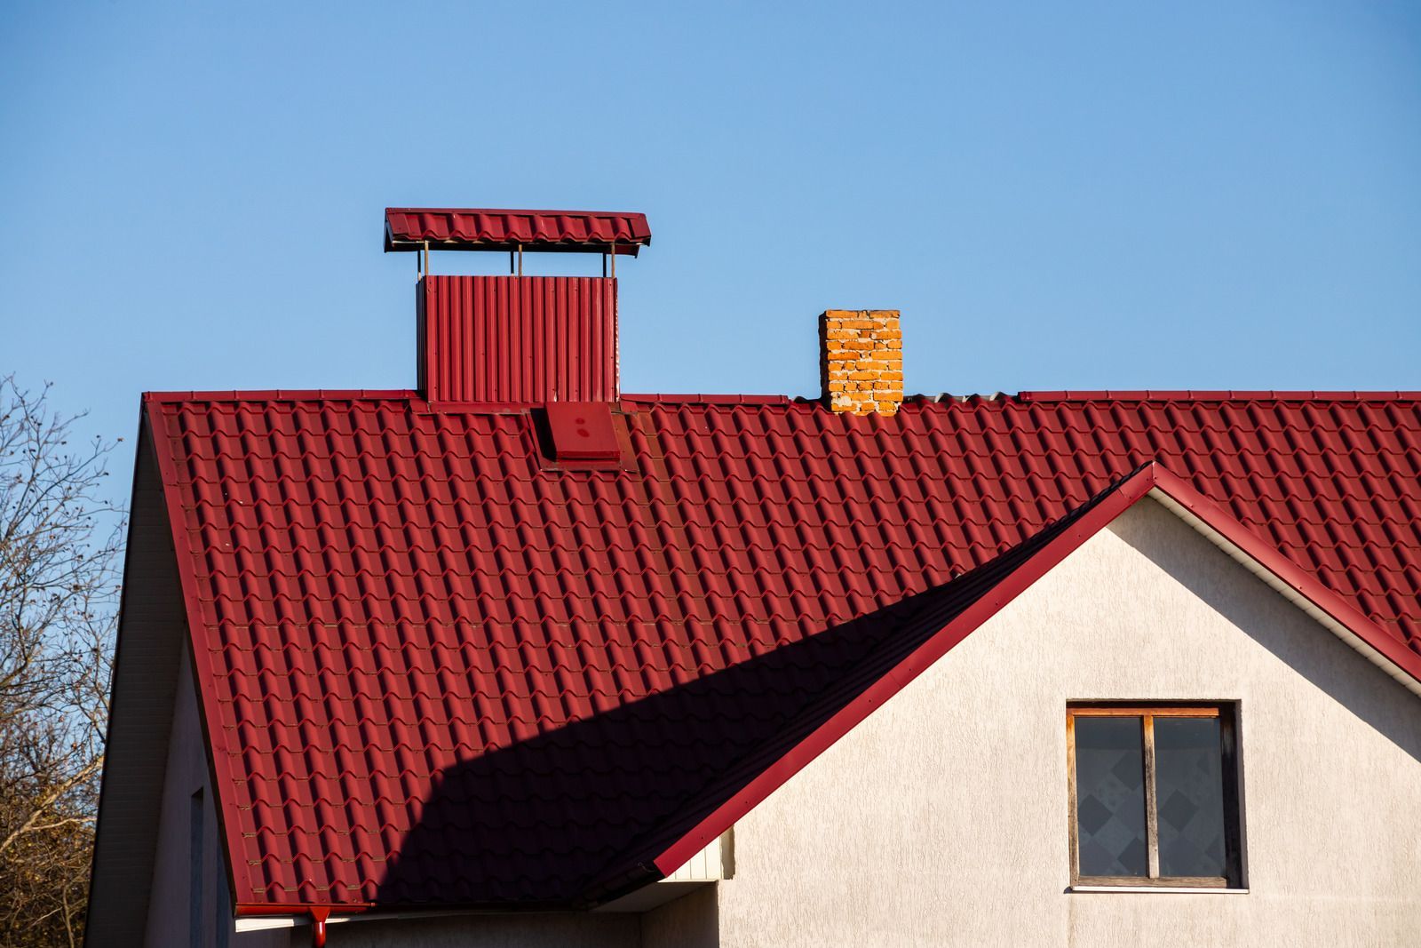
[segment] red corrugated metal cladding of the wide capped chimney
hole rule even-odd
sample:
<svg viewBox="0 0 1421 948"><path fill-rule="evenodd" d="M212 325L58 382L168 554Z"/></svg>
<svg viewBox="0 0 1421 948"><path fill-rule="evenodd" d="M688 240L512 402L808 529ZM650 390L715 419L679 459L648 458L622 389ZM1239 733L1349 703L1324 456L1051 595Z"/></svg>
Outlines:
<svg viewBox="0 0 1421 948"><path fill-rule="evenodd" d="M432 402L615 401L617 281L425 277L419 388Z"/></svg>

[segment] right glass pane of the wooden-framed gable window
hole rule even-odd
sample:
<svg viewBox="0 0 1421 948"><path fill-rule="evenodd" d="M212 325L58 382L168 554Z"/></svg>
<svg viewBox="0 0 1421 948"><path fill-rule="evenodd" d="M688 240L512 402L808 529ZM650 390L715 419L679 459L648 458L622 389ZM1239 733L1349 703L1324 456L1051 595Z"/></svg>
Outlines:
<svg viewBox="0 0 1421 948"><path fill-rule="evenodd" d="M1223 876L1218 718L1155 718L1160 874Z"/></svg>

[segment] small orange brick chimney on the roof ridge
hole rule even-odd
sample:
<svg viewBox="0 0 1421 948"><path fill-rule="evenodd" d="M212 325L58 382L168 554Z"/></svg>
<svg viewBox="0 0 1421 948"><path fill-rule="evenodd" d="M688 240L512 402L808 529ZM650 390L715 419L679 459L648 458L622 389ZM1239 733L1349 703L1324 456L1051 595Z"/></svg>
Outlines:
<svg viewBox="0 0 1421 948"><path fill-rule="evenodd" d="M897 412L902 404L898 310L828 310L818 317L818 381L837 412Z"/></svg>

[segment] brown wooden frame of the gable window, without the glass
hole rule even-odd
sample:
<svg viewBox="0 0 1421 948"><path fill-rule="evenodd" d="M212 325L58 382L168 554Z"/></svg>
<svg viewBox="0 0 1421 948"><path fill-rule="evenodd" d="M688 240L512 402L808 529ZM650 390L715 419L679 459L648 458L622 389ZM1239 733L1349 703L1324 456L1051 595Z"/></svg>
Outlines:
<svg viewBox="0 0 1421 948"><path fill-rule="evenodd" d="M1076 813L1076 718L1140 718L1145 782L1145 844L1148 876L1081 876L1080 817ZM1223 876L1160 874L1160 807L1155 797L1155 718L1218 718L1219 770L1223 777ZM1243 837L1235 702L1084 702L1066 705L1066 783L1070 823L1070 884L1121 888L1242 888Z"/></svg>

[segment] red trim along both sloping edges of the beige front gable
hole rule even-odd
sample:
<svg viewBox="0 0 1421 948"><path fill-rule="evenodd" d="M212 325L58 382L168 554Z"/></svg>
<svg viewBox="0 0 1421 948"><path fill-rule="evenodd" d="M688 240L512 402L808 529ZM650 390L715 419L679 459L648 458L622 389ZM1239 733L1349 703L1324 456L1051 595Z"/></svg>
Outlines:
<svg viewBox="0 0 1421 948"><path fill-rule="evenodd" d="M1388 635L1377 623L1297 567L1276 547L1259 539L1181 478L1158 462L1151 462L1083 507L1080 517L1073 524L1050 539L1044 547L1017 566L986 596L963 610L892 671L762 770L745 789L720 804L693 830L672 843L655 858L657 868L662 874L675 871L708 840L733 826L736 820L864 721L877 706L898 694L908 682L1026 591L1086 540L1147 496L1158 500L1324 628L1361 652L1412 694L1421 696L1421 655ZM1060 526L1059 523L1056 527L1047 527L1043 533Z"/></svg>

